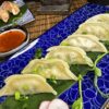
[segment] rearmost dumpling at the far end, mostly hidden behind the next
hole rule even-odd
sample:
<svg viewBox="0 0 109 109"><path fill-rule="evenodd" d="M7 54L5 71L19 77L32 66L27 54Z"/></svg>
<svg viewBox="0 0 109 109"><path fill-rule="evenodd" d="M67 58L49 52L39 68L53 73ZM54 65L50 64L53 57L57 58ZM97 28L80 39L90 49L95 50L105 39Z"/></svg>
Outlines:
<svg viewBox="0 0 109 109"><path fill-rule="evenodd" d="M107 22L107 23L109 23L109 13L97 14L97 15L88 19L85 23L88 23L88 22Z"/></svg>

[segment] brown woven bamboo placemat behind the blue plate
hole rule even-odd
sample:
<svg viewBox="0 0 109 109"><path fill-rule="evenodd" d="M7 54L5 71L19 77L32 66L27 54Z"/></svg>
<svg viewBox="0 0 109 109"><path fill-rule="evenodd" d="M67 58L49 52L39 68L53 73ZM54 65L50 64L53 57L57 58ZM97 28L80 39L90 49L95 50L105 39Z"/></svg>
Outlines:
<svg viewBox="0 0 109 109"><path fill-rule="evenodd" d="M74 12L76 9L81 8L85 3L86 0L72 0L70 13ZM27 31L31 33L31 38L38 37L70 14L68 13L68 15L39 15L37 13L37 8L39 7L39 3L28 2L27 5L35 16L35 21L26 25Z"/></svg>

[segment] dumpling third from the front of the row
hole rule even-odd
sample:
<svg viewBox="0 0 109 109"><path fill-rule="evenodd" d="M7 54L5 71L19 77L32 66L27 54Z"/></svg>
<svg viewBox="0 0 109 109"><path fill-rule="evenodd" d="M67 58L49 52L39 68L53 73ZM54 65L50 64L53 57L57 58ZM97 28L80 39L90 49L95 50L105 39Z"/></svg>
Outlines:
<svg viewBox="0 0 109 109"><path fill-rule="evenodd" d="M49 48L46 59L62 59L69 64L88 64L93 66L93 61L86 56L86 52L78 47L56 46Z"/></svg>

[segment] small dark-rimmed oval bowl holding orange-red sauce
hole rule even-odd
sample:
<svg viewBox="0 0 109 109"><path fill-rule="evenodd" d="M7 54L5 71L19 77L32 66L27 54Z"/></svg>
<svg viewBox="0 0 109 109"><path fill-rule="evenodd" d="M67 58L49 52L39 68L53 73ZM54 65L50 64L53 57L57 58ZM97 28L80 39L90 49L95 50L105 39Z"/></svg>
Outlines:
<svg viewBox="0 0 109 109"><path fill-rule="evenodd" d="M0 32L0 58L11 56L25 47L29 34L25 27L11 26Z"/></svg>

